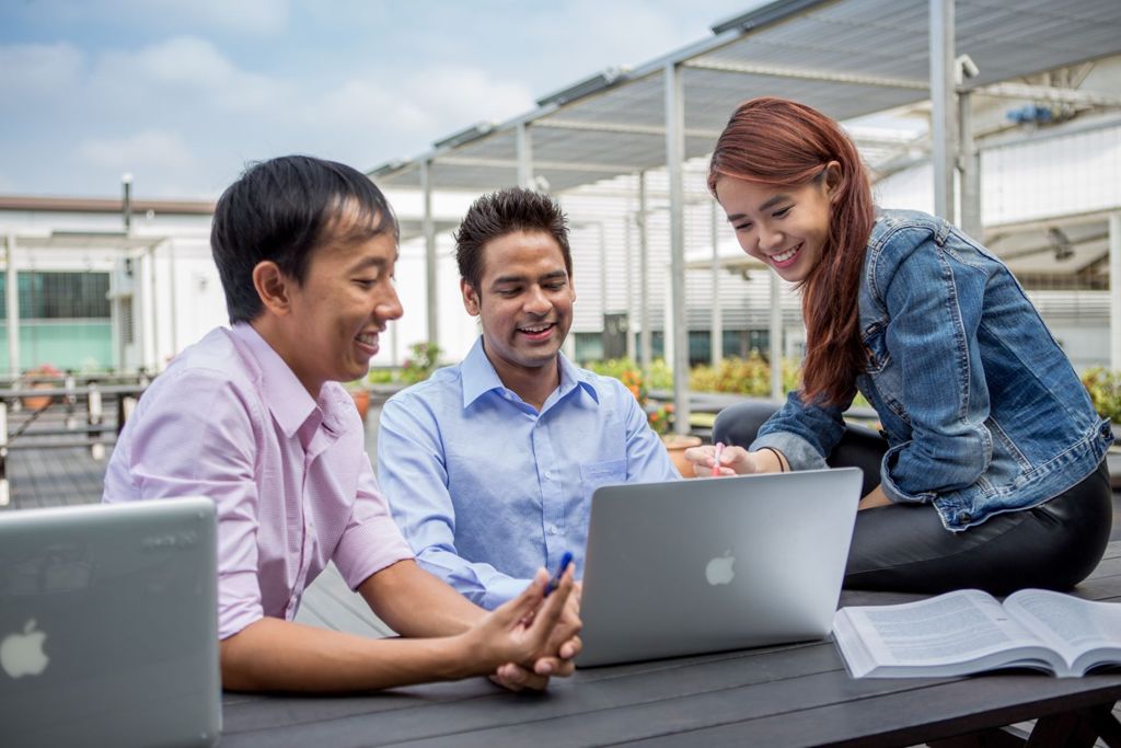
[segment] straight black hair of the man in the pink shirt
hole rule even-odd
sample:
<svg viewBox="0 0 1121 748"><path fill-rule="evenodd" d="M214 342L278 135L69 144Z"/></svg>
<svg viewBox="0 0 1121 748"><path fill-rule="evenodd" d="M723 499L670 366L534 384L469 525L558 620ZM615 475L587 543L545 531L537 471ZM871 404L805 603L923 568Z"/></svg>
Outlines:
<svg viewBox="0 0 1121 748"><path fill-rule="evenodd" d="M251 164L222 193L211 228L230 323L254 320L265 308L253 286L259 262L271 260L303 284L319 246L389 231L399 234L389 202L353 167L312 156Z"/></svg>

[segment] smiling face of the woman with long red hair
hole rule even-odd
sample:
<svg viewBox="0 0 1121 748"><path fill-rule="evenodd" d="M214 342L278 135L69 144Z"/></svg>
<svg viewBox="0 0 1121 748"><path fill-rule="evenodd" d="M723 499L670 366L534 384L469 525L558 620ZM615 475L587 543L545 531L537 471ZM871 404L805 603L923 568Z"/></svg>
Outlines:
<svg viewBox="0 0 1121 748"><path fill-rule="evenodd" d="M800 283L825 251L834 182L833 163L821 177L800 187L725 176L716 183L716 200L744 252L775 268L785 280Z"/></svg>

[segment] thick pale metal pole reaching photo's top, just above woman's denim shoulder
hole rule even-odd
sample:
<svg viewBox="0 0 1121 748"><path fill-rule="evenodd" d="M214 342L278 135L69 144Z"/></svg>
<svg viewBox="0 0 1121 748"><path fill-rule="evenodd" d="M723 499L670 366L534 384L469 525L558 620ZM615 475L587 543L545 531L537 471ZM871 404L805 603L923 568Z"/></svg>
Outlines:
<svg viewBox="0 0 1121 748"><path fill-rule="evenodd" d="M930 0L930 161L934 212L956 223L954 170L957 110L954 105L954 0Z"/></svg>

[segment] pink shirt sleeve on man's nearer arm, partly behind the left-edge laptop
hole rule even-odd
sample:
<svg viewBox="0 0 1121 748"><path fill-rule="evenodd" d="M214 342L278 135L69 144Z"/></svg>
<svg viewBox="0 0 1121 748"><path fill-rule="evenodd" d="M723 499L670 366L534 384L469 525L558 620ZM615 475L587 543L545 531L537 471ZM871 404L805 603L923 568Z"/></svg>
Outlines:
<svg viewBox="0 0 1121 748"><path fill-rule="evenodd" d="M263 617L257 576L258 489L250 406L222 376L165 375L128 440L135 497L205 496L217 509L219 637ZM184 407L184 401L196 404ZM106 487L106 500L113 500Z"/></svg>

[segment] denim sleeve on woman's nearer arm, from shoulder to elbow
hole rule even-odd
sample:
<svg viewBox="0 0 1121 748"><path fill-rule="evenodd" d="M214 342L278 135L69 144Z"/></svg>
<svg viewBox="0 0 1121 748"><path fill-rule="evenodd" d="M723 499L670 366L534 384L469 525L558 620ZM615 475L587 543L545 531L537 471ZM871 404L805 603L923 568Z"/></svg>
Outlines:
<svg viewBox="0 0 1121 748"><path fill-rule="evenodd" d="M935 241L897 242L877 275L890 323L888 352L901 370L911 438L883 458L882 487L893 501L930 501L974 483L992 460L989 389L978 348L983 271ZM967 287L973 286L973 287ZM937 393L937 396L932 396Z"/></svg>

